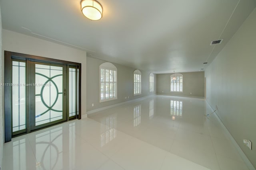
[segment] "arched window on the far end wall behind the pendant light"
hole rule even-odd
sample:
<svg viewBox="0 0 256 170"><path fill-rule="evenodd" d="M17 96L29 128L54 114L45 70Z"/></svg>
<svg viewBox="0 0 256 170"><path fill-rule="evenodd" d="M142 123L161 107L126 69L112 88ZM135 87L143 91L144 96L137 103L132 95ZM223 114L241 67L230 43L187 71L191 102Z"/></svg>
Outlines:
<svg viewBox="0 0 256 170"><path fill-rule="evenodd" d="M175 73L170 76L171 92L183 92L183 75Z"/></svg>

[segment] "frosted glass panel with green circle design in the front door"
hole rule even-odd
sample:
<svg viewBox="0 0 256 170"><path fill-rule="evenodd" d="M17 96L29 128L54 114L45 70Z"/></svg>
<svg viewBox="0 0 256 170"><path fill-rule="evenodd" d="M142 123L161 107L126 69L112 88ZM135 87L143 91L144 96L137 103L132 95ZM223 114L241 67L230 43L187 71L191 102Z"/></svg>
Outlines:
<svg viewBox="0 0 256 170"><path fill-rule="evenodd" d="M63 67L36 64L36 126L63 119Z"/></svg>

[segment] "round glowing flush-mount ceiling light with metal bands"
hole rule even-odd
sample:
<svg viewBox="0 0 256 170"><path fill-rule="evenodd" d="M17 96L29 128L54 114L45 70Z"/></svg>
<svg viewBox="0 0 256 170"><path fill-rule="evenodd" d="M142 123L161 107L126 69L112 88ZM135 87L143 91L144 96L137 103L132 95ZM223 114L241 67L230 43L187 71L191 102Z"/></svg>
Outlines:
<svg viewBox="0 0 256 170"><path fill-rule="evenodd" d="M96 0L82 0L81 11L89 20L100 20L103 15L103 8L101 4Z"/></svg>

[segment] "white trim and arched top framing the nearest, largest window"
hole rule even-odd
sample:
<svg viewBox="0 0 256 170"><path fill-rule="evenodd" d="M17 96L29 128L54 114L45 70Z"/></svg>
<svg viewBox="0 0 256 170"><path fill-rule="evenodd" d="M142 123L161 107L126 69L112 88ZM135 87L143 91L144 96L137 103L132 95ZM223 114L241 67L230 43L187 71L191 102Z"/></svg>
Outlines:
<svg viewBox="0 0 256 170"><path fill-rule="evenodd" d="M101 70L100 69L107 69L107 70L113 70L113 71L116 71L116 97L115 98L108 98L108 99L103 99L101 100ZM107 102L107 101L110 101L110 100L116 100L117 99L117 68L116 66L114 66L114 64L112 63L109 63L109 62L106 62L106 63L102 63L100 64L99 66L99 84L100 84L100 103L101 102ZM106 78L106 77L105 77ZM106 79L105 79L106 80ZM105 82L105 81L104 81ZM113 80L113 83L114 83L114 80ZM106 94L106 92L104 93Z"/></svg>

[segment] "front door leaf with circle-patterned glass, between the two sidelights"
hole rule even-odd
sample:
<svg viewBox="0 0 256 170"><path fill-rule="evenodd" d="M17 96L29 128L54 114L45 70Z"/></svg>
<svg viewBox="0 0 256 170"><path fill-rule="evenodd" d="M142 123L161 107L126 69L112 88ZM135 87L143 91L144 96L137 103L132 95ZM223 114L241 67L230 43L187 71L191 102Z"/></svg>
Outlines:
<svg viewBox="0 0 256 170"><path fill-rule="evenodd" d="M30 86L30 130L39 129L67 120L66 113L66 65L31 62L33 77Z"/></svg>

